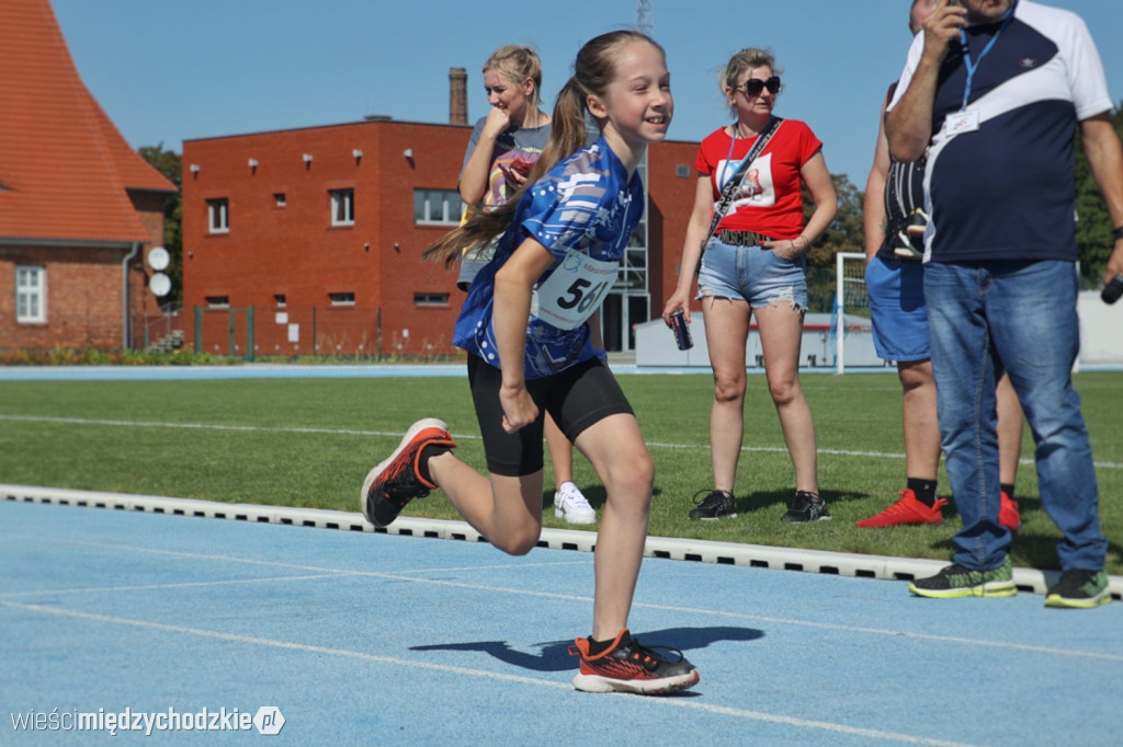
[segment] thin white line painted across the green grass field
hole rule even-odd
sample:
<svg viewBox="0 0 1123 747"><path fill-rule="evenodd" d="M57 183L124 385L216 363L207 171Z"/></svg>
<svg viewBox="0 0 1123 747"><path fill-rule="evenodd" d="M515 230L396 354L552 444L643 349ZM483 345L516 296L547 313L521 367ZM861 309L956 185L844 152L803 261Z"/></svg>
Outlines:
<svg viewBox="0 0 1123 747"><path fill-rule="evenodd" d="M86 417L53 417L40 415L6 415L0 414L0 421L19 423L57 423L63 425L108 425L118 427L144 427L144 428L184 428L194 431L240 431L245 433L296 433L314 435L344 435L344 436L383 436L387 439L401 439L400 432L389 431L355 431L350 428L307 428L307 427L281 427L262 425L223 425L220 423L159 423L155 421L110 421ZM456 437L463 441L478 441L481 436L474 434L457 433ZM690 443L666 443L659 441L647 442L649 449L697 449L709 451L709 444ZM784 446L741 446L741 451L751 453L787 453ZM856 457L859 459L904 459L904 452L885 451L856 451L852 449L819 449L820 454L829 457ZM1019 460L1020 464L1033 464L1032 459ZM1096 469L1117 470L1123 469L1121 462L1095 462Z"/></svg>

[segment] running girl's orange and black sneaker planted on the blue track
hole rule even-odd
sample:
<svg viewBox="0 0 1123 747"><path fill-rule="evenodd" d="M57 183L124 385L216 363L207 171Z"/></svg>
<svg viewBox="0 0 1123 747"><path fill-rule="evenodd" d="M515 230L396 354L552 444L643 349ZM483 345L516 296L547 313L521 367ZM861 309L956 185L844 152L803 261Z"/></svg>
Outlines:
<svg viewBox="0 0 1123 747"><path fill-rule="evenodd" d="M699 671L683 658L682 652L669 649L678 654L678 661L664 658L640 645L628 628L617 634L606 651L596 655L590 655L592 642L588 638L577 638L574 643L569 654L581 655L581 671L573 679L577 690L663 695L686 690L699 682Z"/></svg>

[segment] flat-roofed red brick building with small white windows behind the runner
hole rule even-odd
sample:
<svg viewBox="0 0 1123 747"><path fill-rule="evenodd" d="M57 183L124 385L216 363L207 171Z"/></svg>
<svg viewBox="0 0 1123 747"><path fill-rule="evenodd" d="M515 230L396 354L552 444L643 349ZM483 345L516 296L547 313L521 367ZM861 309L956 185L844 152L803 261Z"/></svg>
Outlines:
<svg viewBox="0 0 1123 747"><path fill-rule="evenodd" d="M368 118L185 141L183 294L195 349L454 352L464 294L455 268L423 262L421 251L459 222L471 132ZM631 349L630 326L658 315L674 289L696 151L694 142L648 151L645 225L604 308L610 350Z"/></svg>

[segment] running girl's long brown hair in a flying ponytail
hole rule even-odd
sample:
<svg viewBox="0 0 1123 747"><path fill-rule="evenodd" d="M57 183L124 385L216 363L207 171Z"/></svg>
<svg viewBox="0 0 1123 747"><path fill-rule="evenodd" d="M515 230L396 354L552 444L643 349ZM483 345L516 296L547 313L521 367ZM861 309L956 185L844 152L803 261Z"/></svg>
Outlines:
<svg viewBox="0 0 1123 747"><path fill-rule="evenodd" d="M474 249L492 241L514 220L519 199L555 164L584 147L586 141L585 111L591 95L604 96L617 76L617 61L631 44L650 44L664 49L645 34L632 30L610 31L592 39L577 53L573 76L562 86L554 103L554 123L542 155L535 162L526 183L506 202L491 211L482 211L464 225L432 242L422 257L451 265L464 249Z"/></svg>

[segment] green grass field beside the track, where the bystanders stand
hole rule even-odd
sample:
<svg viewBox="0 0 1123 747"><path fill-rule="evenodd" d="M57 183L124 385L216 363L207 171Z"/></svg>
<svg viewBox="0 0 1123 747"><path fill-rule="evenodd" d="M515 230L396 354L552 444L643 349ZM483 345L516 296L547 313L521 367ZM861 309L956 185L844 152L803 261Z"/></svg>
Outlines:
<svg viewBox="0 0 1123 747"><path fill-rule="evenodd" d="M819 434L819 479L833 522L785 524L794 488L763 376L749 378L740 516L690 522L692 497L711 487L706 375L623 375L655 458L650 533L723 542L946 559L955 513L937 527L858 529L857 519L904 487L901 390L884 374L806 375ZM1123 573L1123 374L1076 377L1099 478L1108 571ZM366 471L414 419L449 423L457 453L483 468L463 378L240 379L202 381L0 382L0 482L358 510ZM1041 508L1026 432L1017 494L1023 527L1015 565L1056 569L1059 534ZM547 467L547 471L549 467ZM579 455L577 482L596 507L604 490ZM941 469L941 494L949 491ZM547 474L551 487L553 476ZM542 496L553 498L553 489ZM458 518L433 492L407 515ZM545 511L547 526L564 526Z"/></svg>

